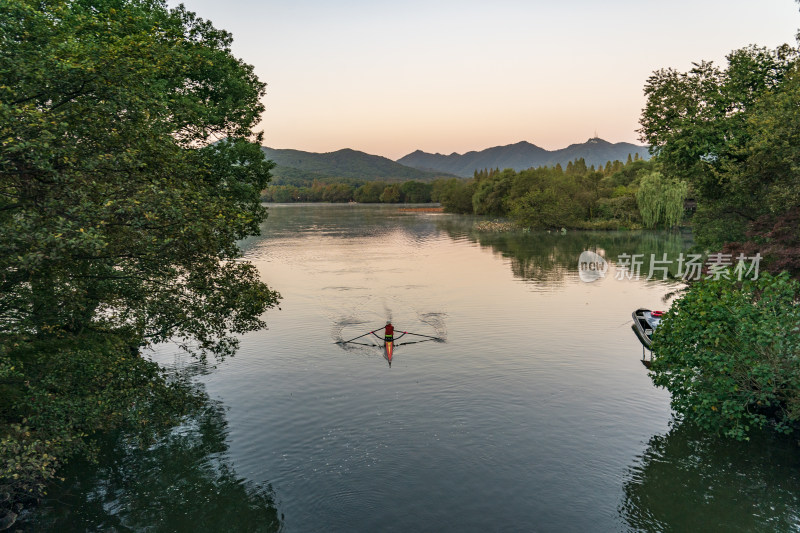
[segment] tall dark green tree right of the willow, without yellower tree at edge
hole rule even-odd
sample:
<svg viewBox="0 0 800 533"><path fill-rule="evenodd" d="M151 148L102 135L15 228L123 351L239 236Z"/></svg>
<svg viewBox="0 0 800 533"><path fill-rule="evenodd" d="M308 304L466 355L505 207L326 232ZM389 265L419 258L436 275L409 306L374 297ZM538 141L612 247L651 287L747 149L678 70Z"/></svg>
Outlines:
<svg viewBox="0 0 800 533"><path fill-rule="evenodd" d="M655 72L645 86L639 130L664 173L686 181L697 195L697 242L717 249L744 240L748 224L769 210L764 200L775 188L754 185L768 173L751 167L755 179L745 182L741 175L760 135L754 118L769 115L764 101L785 94L797 50L751 46L727 60L724 70L701 62L686 73Z"/></svg>

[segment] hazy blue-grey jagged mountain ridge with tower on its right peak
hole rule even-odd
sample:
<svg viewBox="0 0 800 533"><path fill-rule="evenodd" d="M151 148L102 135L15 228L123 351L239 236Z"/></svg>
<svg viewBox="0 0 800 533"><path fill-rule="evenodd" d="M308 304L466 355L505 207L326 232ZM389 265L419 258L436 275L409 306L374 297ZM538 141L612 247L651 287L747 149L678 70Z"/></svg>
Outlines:
<svg viewBox="0 0 800 533"><path fill-rule="evenodd" d="M507 146L495 146L480 152L450 155L430 154L417 150L397 160L398 163L420 170L448 172L462 177L472 177L475 170L484 168L513 168L525 170L531 167L562 166L575 159L584 158L586 165L605 165L608 161L625 162L628 154L631 157L639 154L640 158L649 159L646 146L631 143L610 143L593 137L582 144L571 144L560 150L545 150L526 141Z"/></svg>

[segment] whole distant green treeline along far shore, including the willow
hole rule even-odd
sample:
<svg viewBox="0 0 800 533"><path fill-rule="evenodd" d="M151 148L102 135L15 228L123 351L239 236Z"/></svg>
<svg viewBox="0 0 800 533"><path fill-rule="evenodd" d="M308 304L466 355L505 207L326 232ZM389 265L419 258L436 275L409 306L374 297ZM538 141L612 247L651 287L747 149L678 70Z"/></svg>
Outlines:
<svg viewBox="0 0 800 533"><path fill-rule="evenodd" d="M265 191L267 202L425 203L445 211L507 217L532 228L621 228L674 226L684 212L685 184L668 180L655 161L628 156L626 162L587 166L583 158L563 168L523 171L484 169L470 179L432 183L387 183L354 179L280 184Z"/></svg>

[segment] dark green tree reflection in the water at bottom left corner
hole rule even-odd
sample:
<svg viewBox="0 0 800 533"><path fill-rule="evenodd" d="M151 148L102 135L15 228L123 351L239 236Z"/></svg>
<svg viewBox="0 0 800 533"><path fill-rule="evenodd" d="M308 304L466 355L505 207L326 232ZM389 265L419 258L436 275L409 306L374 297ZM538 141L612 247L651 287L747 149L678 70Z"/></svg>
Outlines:
<svg viewBox="0 0 800 533"><path fill-rule="evenodd" d="M149 449L123 438L107 443L99 464L73 464L20 524L35 531L278 531L270 486L236 475L226 452L227 421L218 402Z"/></svg>

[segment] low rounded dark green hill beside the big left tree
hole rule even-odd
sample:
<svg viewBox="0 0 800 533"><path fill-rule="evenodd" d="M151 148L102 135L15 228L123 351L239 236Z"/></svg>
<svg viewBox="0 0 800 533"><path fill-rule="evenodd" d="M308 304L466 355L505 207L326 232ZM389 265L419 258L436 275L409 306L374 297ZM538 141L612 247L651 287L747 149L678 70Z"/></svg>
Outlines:
<svg viewBox="0 0 800 533"><path fill-rule="evenodd" d="M426 171L401 165L386 157L346 148L336 152L314 153L262 146L267 159L276 163L274 184L321 178L356 178L368 181L432 181L441 171Z"/></svg>

